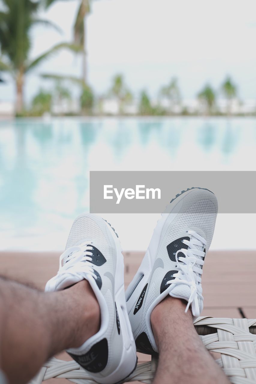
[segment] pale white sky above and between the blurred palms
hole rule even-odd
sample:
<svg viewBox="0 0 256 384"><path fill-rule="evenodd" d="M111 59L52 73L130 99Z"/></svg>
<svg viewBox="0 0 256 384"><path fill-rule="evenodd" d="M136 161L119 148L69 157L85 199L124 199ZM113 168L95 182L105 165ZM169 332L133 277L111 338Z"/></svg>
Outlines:
<svg viewBox="0 0 256 384"><path fill-rule="evenodd" d="M42 15L63 35L35 28L32 57L71 40L77 7L78 0L59 1ZM87 32L88 77L98 94L107 91L115 73L123 73L135 94L146 88L156 96L178 76L183 98L193 98L206 81L218 89L229 73L241 98L256 98L255 0L95 0ZM40 85L51 86L38 74L80 71L80 58L62 51L28 76L26 98ZM13 98L11 82L0 87L0 99Z"/></svg>

